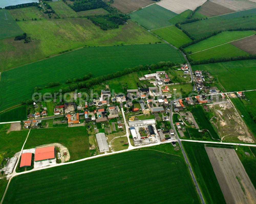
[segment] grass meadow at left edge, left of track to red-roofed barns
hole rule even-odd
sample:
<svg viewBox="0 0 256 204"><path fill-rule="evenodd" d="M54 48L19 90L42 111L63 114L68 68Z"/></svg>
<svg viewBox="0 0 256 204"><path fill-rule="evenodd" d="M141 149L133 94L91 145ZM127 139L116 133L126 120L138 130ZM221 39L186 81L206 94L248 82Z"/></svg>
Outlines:
<svg viewBox="0 0 256 204"><path fill-rule="evenodd" d="M0 151L7 152L5 157L13 157L21 150L27 134L27 130L10 131L8 134L7 131L0 131Z"/></svg>

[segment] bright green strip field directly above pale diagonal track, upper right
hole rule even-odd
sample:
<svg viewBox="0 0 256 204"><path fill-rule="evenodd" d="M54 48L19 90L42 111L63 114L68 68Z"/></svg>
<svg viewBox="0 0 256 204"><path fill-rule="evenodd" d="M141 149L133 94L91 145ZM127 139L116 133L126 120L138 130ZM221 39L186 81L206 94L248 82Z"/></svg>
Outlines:
<svg viewBox="0 0 256 204"><path fill-rule="evenodd" d="M221 32L217 35L214 35L210 38L207 38L205 40L202 40L196 44L193 45L189 45L187 47L185 47L184 49L187 52L198 52L201 50L205 50L217 45L221 45L233 40L238 40L250 35L255 34L255 31L253 30L245 30L245 31L226 31L226 32Z"/></svg>

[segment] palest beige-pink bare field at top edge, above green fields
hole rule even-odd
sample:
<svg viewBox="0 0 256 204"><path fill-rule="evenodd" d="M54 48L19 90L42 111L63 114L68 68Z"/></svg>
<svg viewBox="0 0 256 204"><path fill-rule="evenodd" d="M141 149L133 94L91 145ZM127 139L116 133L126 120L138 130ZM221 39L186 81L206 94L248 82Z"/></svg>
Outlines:
<svg viewBox="0 0 256 204"><path fill-rule="evenodd" d="M205 2L206 0L163 0L156 4L170 11L173 11L176 14L180 14L187 9L195 10L196 7L202 5Z"/></svg>

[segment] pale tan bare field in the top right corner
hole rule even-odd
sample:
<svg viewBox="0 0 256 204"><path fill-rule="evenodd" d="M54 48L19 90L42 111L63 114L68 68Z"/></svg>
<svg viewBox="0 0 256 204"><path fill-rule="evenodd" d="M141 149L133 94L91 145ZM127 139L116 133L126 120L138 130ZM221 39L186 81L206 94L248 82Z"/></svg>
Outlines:
<svg viewBox="0 0 256 204"><path fill-rule="evenodd" d="M235 11L256 7L256 3L247 1L247 0L210 0L210 1Z"/></svg>

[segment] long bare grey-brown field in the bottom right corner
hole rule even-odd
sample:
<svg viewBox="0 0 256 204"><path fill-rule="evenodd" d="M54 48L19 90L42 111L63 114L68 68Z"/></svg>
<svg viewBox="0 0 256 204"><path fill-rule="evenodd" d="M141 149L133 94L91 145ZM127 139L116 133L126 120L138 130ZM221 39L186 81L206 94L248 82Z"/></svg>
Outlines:
<svg viewBox="0 0 256 204"><path fill-rule="evenodd" d="M256 203L256 190L234 149L205 147L226 203Z"/></svg>

